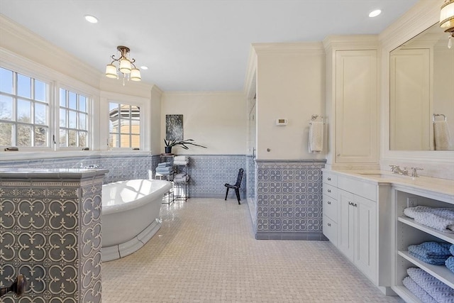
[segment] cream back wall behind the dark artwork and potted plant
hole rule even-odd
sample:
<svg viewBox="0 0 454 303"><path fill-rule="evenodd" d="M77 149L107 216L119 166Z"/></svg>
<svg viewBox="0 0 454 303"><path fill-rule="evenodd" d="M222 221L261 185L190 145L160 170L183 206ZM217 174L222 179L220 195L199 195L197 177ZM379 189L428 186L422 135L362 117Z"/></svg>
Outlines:
<svg viewBox="0 0 454 303"><path fill-rule="evenodd" d="M245 155L246 105L242 92L164 92L160 152L164 153L165 115L182 114L184 139L194 139L206 148L172 148L172 153Z"/></svg>

